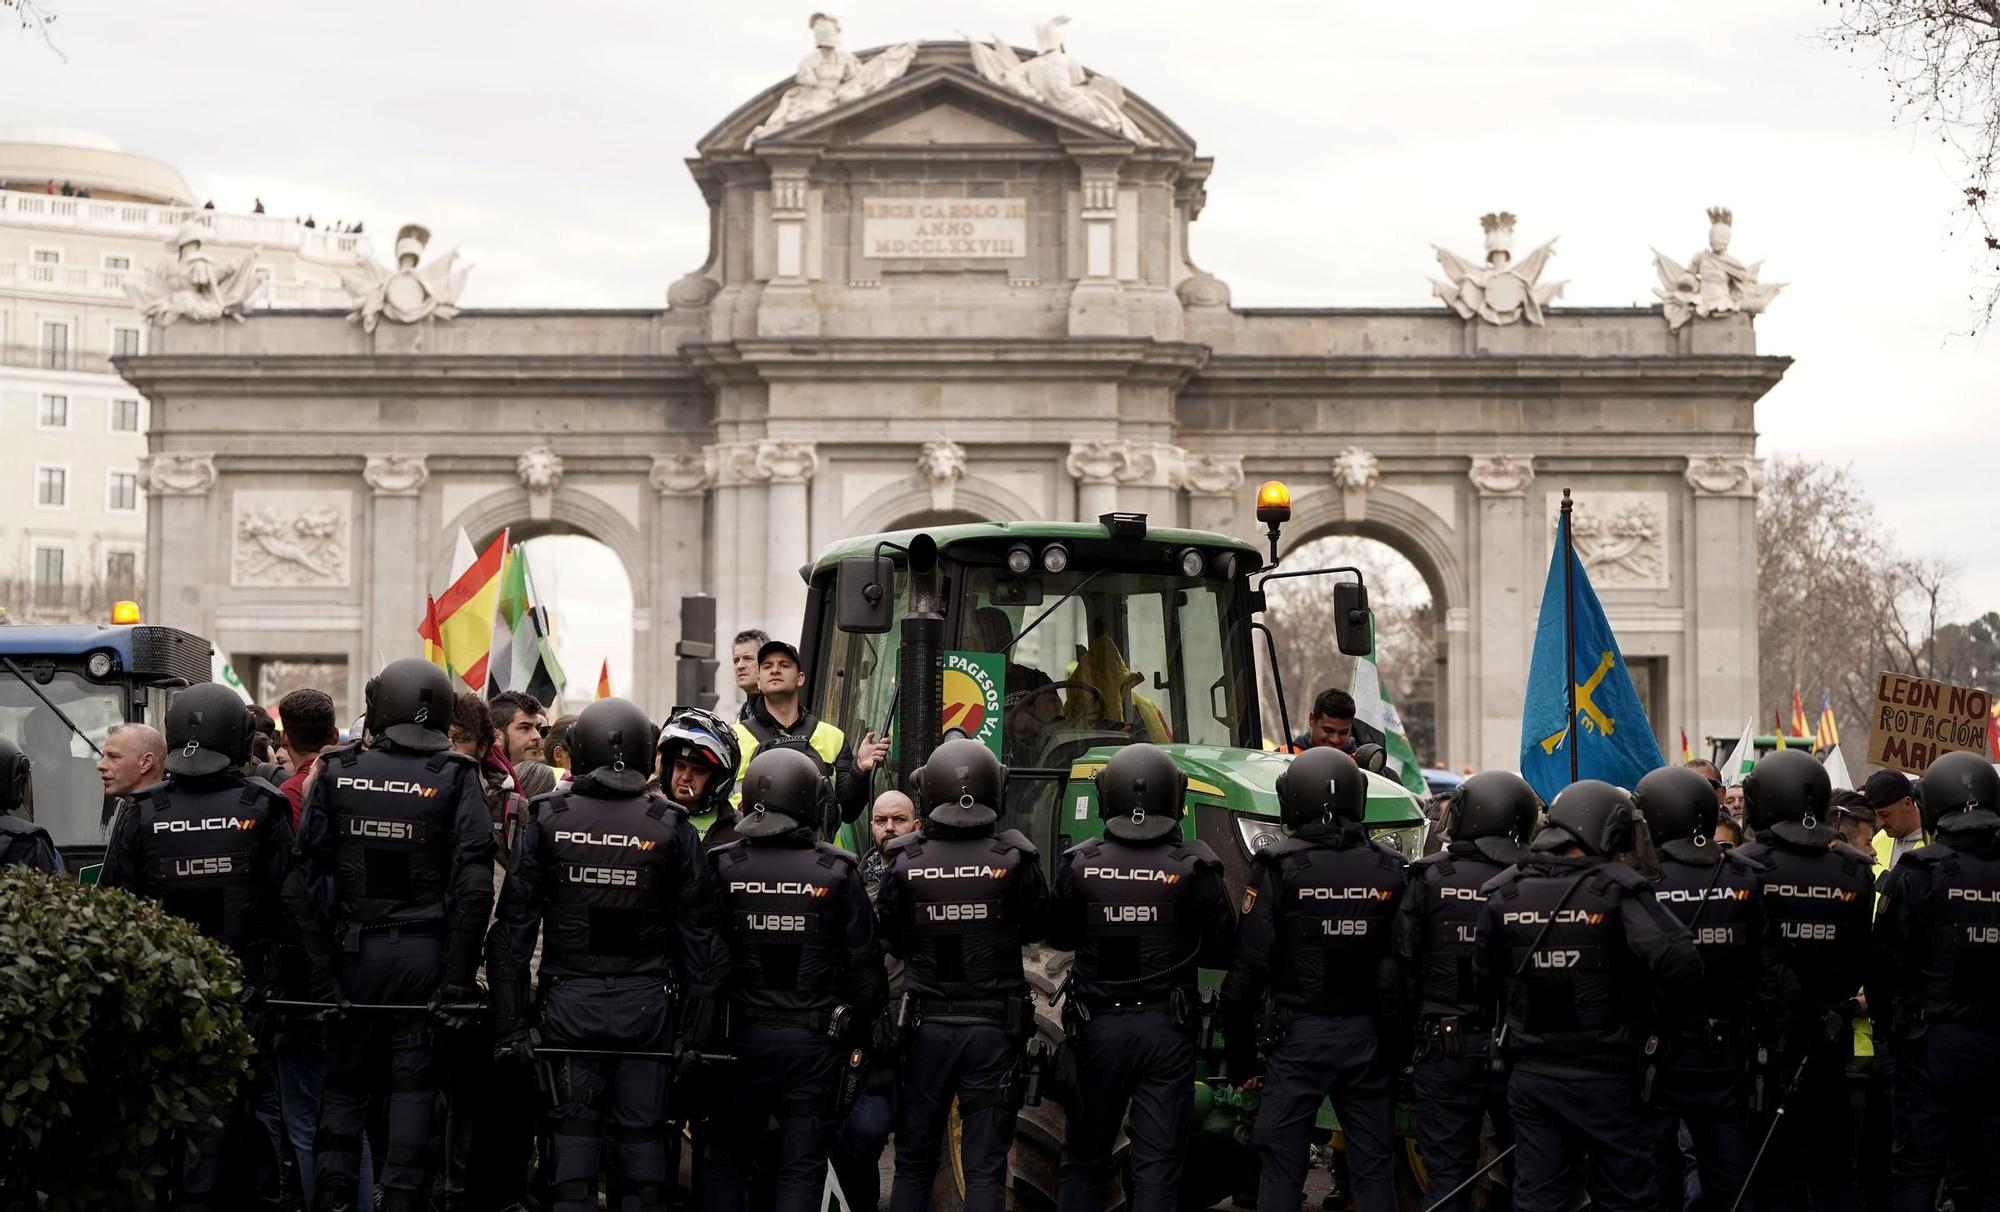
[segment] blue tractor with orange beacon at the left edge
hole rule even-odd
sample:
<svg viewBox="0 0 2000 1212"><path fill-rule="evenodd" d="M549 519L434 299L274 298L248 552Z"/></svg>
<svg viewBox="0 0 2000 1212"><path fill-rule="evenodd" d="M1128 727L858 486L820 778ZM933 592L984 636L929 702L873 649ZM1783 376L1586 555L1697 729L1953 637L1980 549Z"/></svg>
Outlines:
<svg viewBox="0 0 2000 1212"><path fill-rule="evenodd" d="M118 724L166 720L166 696L210 678L208 640L138 622L0 626L0 734L34 762L30 810L72 872L104 858L112 802L96 762Z"/></svg>

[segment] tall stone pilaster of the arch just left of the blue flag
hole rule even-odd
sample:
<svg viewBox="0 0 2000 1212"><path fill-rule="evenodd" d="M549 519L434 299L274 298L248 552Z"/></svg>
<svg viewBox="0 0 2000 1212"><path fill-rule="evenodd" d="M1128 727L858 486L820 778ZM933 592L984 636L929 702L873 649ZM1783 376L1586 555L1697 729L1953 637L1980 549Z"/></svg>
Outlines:
<svg viewBox="0 0 2000 1212"><path fill-rule="evenodd" d="M1466 546L1466 584L1472 590L1466 656L1478 670L1478 702L1470 704L1470 736L1454 738L1480 770L1514 770L1520 764L1520 704L1528 684L1528 654L1534 634L1528 616L1536 608L1538 556L1528 486L1534 484L1534 456L1474 454L1468 472L1478 492L1476 534ZM1460 660L1452 644L1450 660Z"/></svg>

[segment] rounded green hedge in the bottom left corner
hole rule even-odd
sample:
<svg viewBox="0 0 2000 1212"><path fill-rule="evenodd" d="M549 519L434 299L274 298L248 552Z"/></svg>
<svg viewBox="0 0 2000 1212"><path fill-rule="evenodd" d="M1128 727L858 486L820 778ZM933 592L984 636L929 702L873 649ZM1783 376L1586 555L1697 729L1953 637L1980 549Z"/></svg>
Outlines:
<svg viewBox="0 0 2000 1212"><path fill-rule="evenodd" d="M240 990L228 948L156 902L0 868L0 1202L152 1196L172 1132L248 1072Z"/></svg>

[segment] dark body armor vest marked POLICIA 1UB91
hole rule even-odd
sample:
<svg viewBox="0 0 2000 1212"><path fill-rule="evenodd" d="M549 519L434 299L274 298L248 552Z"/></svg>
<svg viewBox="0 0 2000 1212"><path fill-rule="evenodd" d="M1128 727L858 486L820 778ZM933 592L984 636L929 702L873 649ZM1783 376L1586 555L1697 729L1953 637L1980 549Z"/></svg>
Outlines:
<svg viewBox="0 0 2000 1212"><path fill-rule="evenodd" d="M1104 1002L1148 1002L1194 988L1202 916L1194 874L1222 860L1202 842L1136 846L1084 842L1064 856L1084 898L1076 946L1076 994Z"/></svg>

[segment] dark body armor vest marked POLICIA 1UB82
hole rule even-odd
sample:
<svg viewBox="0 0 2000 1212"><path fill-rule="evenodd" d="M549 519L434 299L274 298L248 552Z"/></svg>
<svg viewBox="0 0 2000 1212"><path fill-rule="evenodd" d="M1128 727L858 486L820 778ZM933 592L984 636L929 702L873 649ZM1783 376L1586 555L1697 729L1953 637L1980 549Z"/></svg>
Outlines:
<svg viewBox="0 0 2000 1212"><path fill-rule="evenodd" d="M1804 988L1800 1012L1840 1006L1860 988L1874 916L1874 880L1854 850L1752 842L1736 850L1764 868L1764 918L1782 940Z"/></svg>

